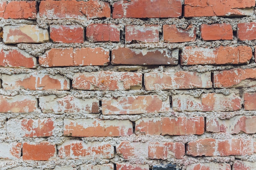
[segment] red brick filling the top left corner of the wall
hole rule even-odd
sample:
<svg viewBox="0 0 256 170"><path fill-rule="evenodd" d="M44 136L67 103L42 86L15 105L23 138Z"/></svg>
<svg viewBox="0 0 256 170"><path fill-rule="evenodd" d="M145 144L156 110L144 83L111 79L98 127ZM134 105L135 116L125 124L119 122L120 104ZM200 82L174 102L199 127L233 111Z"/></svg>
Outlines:
<svg viewBox="0 0 256 170"><path fill-rule="evenodd" d="M2 7L6 2L2 2ZM4 8L4 19L30 19L36 20L36 1L10 1ZM2 10L1 10L2 11ZM1 15L0 15L1 16ZM2 16L1 16L2 17Z"/></svg>

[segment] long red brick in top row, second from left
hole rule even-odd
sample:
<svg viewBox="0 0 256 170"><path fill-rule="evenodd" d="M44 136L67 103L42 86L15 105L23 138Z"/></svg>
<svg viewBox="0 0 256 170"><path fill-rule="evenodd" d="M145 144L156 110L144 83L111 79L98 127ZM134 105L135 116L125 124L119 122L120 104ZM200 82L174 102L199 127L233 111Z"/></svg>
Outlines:
<svg viewBox="0 0 256 170"><path fill-rule="evenodd" d="M46 19L93 19L110 17L110 4L99 0L42 0L39 5L40 17Z"/></svg>

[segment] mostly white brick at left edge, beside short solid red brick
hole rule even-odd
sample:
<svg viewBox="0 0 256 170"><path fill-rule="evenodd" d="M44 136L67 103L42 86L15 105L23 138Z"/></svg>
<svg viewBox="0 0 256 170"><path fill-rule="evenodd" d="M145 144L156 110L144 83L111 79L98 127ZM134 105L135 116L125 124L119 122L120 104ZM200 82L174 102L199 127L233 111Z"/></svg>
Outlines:
<svg viewBox="0 0 256 170"><path fill-rule="evenodd" d="M0 158L1 159L19 159L21 156L22 144L13 143L0 143Z"/></svg>

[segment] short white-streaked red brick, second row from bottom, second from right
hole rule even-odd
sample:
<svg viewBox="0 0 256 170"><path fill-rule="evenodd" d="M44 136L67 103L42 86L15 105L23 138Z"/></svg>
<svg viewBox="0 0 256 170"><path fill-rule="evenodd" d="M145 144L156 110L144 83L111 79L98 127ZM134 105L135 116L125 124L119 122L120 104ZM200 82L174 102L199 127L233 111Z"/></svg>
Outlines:
<svg viewBox="0 0 256 170"><path fill-rule="evenodd" d="M185 145L181 142L149 142L149 159L182 159L185 155Z"/></svg>

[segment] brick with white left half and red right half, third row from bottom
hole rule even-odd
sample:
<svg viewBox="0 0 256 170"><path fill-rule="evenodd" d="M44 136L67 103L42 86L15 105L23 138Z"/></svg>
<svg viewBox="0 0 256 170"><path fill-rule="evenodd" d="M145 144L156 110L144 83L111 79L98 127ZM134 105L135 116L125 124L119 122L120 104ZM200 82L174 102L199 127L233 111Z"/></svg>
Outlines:
<svg viewBox="0 0 256 170"><path fill-rule="evenodd" d="M60 121L58 121L60 123ZM7 135L11 137L49 137L56 132L56 120L42 119L9 119L7 121Z"/></svg>

